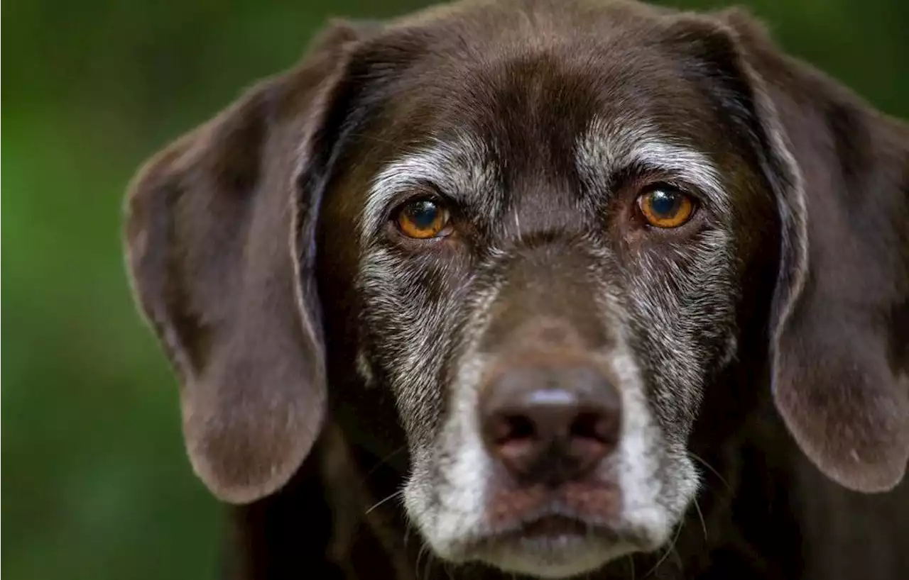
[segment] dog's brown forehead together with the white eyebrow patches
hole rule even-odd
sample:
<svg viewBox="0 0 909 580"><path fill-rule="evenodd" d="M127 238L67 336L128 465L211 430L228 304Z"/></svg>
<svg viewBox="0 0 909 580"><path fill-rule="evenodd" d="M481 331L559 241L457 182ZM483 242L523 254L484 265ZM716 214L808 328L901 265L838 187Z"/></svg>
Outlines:
<svg viewBox="0 0 909 580"><path fill-rule="evenodd" d="M594 219L604 185L642 167L706 186L728 207L736 188L726 180L749 163L749 145L699 76L703 56L671 31L678 21L577 5L595 9L565 16L544 0L515 0L365 46L364 78L385 78L345 151L357 162L345 165L343 205L361 236L417 182L466 202L483 231L503 218L520 219L522 231L583 227L576 210Z"/></svg>

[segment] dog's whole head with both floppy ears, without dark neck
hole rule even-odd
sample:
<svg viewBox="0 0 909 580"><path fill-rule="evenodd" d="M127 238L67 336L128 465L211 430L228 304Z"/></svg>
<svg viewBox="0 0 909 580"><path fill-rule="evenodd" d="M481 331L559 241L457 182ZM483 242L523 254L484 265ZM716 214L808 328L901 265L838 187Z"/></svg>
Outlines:
<svg viewBox="0 0 909 580"><path fill-rule="evenodd" d="M581 574L667 542L698 491L704 398L732 414L759 398L724 382L748 359L772 367L828 475L895 485L904 358L880 364L863 321L904 309L905 244L823 269L835 249L807 223L804 174L870 169L799 151L800 96L758 72L793 64L746 49L738 18L509 2L339 26L160 155L135 186L130 263L186 384L200 476L233 501L282 485L321 426L325 374L355 367L394 399L404 506L437 555ZM856 305L834 287L859 270L891 281ZM814 319L824 307L862 316ZM850 352L823 329L876 342ZM326 346L345 369L324 368Z"/></svg>

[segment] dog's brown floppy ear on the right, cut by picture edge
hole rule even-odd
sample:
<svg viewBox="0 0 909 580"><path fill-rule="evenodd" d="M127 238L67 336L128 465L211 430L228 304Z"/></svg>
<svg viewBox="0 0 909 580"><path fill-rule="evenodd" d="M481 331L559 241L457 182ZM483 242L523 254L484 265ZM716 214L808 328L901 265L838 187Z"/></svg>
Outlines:
<svg viewBox="0 0 909 580"><path fill-rule="evenodd" d="M707 52L735 61L780 215L776 408L828 477L888 490L909 457L909 130L782 54L747 13L713 22Z"/></svg>

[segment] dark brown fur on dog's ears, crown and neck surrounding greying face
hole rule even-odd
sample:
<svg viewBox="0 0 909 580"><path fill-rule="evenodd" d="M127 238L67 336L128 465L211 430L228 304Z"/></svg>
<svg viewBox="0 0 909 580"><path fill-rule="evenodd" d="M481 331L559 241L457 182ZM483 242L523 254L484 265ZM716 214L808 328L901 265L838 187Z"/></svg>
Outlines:
<svg viewBox="0 0 909 580"><path fill-rule="evenodd" d="M613 52L600 48L607 35ZM534 95L497 66L541 51L552 70L518 70L545 81L565 65L572 84L535 95L554 118L514 118ZM464 64L477 59L480 74ZM650 77L634 76L645 69ZM686 516L678 562L656 577L909 575L903 487L847 491L893 490L909 457L909 129L781 54L740 10L509 0L335 23L300 64L158 153L131 186L127 264L181 380L189 457L215 496L245 505L231 577L499 577L483 567L415 572L432 558L419 555L418 538L405 542L416 532L400 507L362 516L400 487L406 438L429 437L415 430L432 421L399 418L387 389L355 372L369 332L357 314L353 224L375 171L443 113L472 119L502 151L534 140L557 149L586 118L585 87L627 78L636 84L623 90L640 96L631 106L655 103L657 123L747 168L740 181L763 172L775 200L739 208L763 216L764 230L740 232L736 245L746 266L738 353L704 388L689 441L713 470L699 496L704 538L692 532L698 515ZM690 93L670 94L679 79ZM559 163L544 167L555 181L574 171ZM572 214L530 199L539 222L528 227L572 227ZM445 270L425 288L435 298L469 273ZM529 303L519 290L513 304ZM534 300L592 323L582 295L563 290ZM438 399L427 418L443 412ZM312 533L319 539L303 546ZM637 577L657 556L630 560L645 566ZM628 566L607 575L630 575Z"/></svg>

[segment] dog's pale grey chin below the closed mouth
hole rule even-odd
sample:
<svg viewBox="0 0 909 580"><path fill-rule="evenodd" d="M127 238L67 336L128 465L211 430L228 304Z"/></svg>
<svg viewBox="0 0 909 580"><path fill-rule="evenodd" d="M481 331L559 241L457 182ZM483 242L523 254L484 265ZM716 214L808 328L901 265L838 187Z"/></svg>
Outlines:
<svg viewBox="0 0 909 580"><path fill-rule="evenodd" d="M651 551L657 545L642 536L620 534L580 520L546 517L475 537L446 559L479 562L510 575L573 578L590 574L624 555Z"/></svg>

